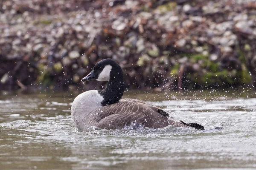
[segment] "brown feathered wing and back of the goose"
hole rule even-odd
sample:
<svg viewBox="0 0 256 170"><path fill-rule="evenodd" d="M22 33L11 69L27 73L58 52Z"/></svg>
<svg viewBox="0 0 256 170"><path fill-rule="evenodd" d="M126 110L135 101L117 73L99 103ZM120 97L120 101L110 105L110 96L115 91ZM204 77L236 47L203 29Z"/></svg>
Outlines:
<svg viewBox="0 0 256 170"><path fill-rule="evenodd" d="M122 129L133 122L150 128L169 125L169 115L162 109L141 102L131 102L131 100L122 100L113 105L104 106L100 112L98 127L104 129Z"/></svg>

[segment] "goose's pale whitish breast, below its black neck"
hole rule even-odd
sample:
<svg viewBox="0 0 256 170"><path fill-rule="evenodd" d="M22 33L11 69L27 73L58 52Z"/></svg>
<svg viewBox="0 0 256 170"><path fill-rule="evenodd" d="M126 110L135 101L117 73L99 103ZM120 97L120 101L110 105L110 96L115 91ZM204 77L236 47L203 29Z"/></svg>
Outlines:
<svg viewBox="0 0 256 170"><path fill-rule="evenodd" d="M90 113L102 106L102 101L103 97L96 90L79 94L71 106L71 115L76 127L81 128L82 124L87 122Z"/></svg>

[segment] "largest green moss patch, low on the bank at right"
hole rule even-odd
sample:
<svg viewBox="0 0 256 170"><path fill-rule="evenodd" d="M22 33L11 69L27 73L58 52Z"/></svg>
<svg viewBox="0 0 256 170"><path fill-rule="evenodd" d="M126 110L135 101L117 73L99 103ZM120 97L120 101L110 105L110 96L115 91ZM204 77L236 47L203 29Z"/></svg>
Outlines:
<svg viewBox="0 0 256 170"><path fill-rule="evenodd" d="M252 78L245 64L246 58L243 51L237 51L239 59L241 60L241 70L233 69L231 71L227 69L219 70L219 63L213 62L208 59L208 56L202 54L182 54L180 57L189 57L190 65L198 63L200 65L200 71L190 72L188 71L183 78L183 83L187 88L207 87L207 86L227 86L227 85L241 85L249 84L252 82ZM177 76L179 73L180 64L176 63L170 71L172 76Z"/></svg>

